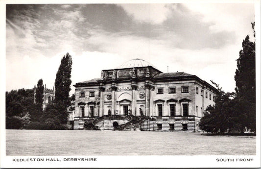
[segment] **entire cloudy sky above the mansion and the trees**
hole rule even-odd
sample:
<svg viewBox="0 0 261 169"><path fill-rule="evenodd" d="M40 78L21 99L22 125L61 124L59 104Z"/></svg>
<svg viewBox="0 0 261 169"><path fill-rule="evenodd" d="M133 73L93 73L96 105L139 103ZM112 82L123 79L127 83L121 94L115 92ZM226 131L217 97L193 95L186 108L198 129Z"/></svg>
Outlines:
<svg viewBox="0 0 261 169"><path fill-rule="evenodd" d="M72 84L140 58L233 92L253 22L253 3L7 4L6 91L31 89L40 78L52 89L69 52Z"/></svg>

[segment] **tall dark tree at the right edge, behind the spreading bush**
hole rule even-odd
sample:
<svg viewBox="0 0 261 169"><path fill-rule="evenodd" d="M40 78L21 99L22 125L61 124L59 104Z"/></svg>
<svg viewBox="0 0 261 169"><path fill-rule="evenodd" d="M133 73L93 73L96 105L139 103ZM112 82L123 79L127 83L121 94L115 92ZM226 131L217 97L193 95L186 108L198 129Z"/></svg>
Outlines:
<svg viewBox="0 0 261 169"><path fill-rule="evenodd" d="M255 23L252 23L254 29ZM255 37L255 29L254 29ZM237 59L235 75L238 114L242 117L240 123L256 131L256 47L249 40L249 35L242 42Z"/></svg>

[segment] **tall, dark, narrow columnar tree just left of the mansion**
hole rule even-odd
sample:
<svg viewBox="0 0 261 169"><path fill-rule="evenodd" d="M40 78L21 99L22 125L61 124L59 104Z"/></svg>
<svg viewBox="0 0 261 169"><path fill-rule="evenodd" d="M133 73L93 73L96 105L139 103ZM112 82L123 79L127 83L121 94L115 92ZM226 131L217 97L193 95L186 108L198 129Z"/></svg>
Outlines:
<svg viewBox="0 0 261 169"><path fill-rule="evenodd" d="M67 121L67 107L70 106L69 92L71 91L71 66L72 59L69 53L63 56L55 79L55 107L61 123Z"/></svg>

